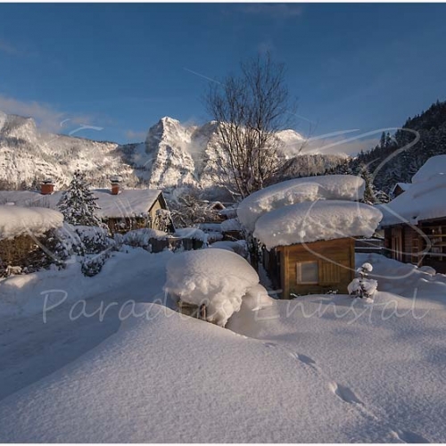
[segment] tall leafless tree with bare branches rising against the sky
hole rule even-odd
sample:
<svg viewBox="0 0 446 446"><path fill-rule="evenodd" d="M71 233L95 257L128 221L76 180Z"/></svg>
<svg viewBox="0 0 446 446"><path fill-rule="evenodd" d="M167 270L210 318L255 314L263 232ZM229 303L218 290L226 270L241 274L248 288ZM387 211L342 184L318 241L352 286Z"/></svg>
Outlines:
<svg viewBox="0 0 446 446"><path fill-rule="evenodd" d="M279 167L277 131L293 116L285 66L267 55L241 64L240 74L212 83L205 96L219 122L222 186L242 198L268 186Z"/></svg>

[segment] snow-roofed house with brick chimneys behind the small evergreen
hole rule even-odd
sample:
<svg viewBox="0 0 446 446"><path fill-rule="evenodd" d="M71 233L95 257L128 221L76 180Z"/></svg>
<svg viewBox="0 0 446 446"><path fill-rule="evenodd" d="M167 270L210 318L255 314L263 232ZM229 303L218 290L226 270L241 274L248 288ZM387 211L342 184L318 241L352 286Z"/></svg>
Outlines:
<svg viewBox="0 0 446 446"><path fill-rule="evenodd" d="M64 191L54 191L50 180L42 183L40 191L0 191L0 204L17 206L40 206L58 210ZM93 189L100 209L99 218L110 227L111 233L126 233L129 230L150 227L174 230L166 201L160 190L127 189L112 178L110 189Z"/></svg>

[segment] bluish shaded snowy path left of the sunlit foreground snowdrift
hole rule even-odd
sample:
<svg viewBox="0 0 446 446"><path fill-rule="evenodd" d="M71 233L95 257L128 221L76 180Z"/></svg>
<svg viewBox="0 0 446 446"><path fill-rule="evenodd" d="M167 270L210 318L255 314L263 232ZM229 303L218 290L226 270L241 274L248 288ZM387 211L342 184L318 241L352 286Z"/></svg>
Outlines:
<svg viewBox="0 0 446 446"><path fill-rule="evenodd" d="M50 310L45 324L41 312L29 317L0 318L0 400L62 368L116 333L119 312L128 300L162 298L165 266L164 261L156 260L155 256L141 256L139 270L112 292L88 296L85 313L96 311L95 316L80 316L81 306L73 308L76 301L70 301ZM104 310L102 320L100 308ZM70 320L70 310L75 320ZM122 311L122 315L125 317L126 312Z"/></svg>

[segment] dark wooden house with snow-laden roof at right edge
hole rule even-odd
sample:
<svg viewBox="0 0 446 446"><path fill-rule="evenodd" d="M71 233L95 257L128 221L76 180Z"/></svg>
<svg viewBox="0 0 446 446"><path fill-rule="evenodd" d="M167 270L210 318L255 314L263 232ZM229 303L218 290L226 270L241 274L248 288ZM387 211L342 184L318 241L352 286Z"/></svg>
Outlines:
<svg viewBox="0 0 446 446"><path fill-rule="evenodd" d="M409 188L380 209L392 259L446 273L446 155L429 158Z"/></svg>

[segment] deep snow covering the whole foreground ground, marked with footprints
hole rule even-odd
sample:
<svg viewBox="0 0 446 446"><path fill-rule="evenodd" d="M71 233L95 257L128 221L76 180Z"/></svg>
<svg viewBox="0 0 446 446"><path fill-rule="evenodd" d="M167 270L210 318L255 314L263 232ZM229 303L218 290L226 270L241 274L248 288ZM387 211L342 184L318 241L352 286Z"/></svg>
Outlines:
<svg viewBox="0 0 446 446"><path fill-rule="evenodd" d="M374 303L242 305L226 329L166 307L173 255L120 252L79 284L89 313L117 302L103 322L70 321L78 297L0 317L0 442L446 441L446 276L361 254Z"/></svg>

